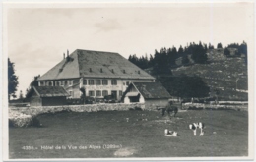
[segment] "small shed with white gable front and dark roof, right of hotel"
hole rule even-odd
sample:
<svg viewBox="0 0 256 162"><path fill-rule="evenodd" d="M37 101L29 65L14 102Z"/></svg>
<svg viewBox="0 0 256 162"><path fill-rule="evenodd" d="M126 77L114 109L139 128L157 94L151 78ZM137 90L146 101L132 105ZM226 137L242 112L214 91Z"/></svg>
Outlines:
<svg viewBox="0 0 256 162"><path fill-rule="evenodd" d="M164 107L171 98L159 82L132 82L123 94L124 103L145 103L146 108Z"/></svg>

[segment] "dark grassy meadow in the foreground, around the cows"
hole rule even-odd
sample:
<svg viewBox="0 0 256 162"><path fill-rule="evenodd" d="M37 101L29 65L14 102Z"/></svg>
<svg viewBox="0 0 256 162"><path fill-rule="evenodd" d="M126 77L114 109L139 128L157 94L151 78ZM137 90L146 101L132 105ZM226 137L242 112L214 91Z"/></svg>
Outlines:
<svg viewBox="0 0 256 162"><path fill-rule="evenodd" d="M38 119L41 128L9 129L10 158L248 155L247 112L189 110L167 122L160 112L136 110L62 112L42 114ZM198 121L206 124L204 136L193 136L188 129L188 124ZM164 129L179 136L166 137Z"/></svg>

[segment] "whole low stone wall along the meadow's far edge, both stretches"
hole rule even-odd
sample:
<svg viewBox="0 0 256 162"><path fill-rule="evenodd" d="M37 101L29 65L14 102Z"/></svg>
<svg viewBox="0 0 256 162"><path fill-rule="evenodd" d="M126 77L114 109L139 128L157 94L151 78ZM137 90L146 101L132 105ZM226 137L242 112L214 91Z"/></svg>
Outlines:
<svg viewBox="0 0 256 162"><path fill-rule="evenodd" d="M200 109L215 109L215 110L237 110L248 111L248 105L210 105L210 104L182 104L177 105L180 110L200 110ZM109 103L109 104L87 104L87 105L62 105L62 106L32 106L23 108L11 108L20 113L36 116L42 113L55 113L61 111L72 112L97 112L97 111L127 111L129 109L141 108L143 110L157 111L156 105L147 107L143 103Z"/></svg>

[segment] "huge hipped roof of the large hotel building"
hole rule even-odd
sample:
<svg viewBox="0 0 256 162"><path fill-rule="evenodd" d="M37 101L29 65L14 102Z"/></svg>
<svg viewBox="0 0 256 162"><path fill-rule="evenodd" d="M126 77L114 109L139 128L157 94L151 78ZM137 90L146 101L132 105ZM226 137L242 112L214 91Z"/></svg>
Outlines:
<svg viewBox="0 0 256 162"><path fill-rule="evenodd" d="M155 79L118 53L77 49L38 81L80 77Z"/></svg>

